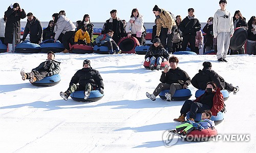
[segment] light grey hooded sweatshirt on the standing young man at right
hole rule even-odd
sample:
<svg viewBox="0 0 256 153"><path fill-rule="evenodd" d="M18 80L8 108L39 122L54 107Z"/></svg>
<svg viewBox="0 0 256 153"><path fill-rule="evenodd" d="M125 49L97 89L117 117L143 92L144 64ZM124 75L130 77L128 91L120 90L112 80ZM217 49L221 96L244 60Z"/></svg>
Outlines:
<svg viewBox="0 0 256 153"><path fill-rule="evenodd" d="M217 10L214 14L214 37L217 38L218 33L220 32L230 32L230 34L234 34L234 25L233 19L231 17L230 12L227 10Z"/></svg>

